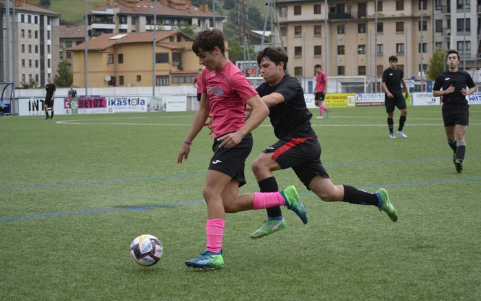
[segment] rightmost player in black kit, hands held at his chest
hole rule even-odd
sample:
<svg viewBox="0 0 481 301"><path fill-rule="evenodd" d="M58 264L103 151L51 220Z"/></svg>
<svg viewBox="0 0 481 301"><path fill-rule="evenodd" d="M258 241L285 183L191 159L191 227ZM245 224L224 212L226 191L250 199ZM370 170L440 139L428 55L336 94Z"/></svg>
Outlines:
<svg viewBox="0 0 481 301"><path fill-rule="evenodd" d="M465 136L469 125L469 105L466 96L476 92L476 86L473 78L466 71L458 69L460 61L456 50L451 49L447 52L446 63L449 70L444 71L436 78L433 95L442 97L447 144L454 152L453 163L456 171L460 173L462 172L462 161L465 159Z"/></svg>

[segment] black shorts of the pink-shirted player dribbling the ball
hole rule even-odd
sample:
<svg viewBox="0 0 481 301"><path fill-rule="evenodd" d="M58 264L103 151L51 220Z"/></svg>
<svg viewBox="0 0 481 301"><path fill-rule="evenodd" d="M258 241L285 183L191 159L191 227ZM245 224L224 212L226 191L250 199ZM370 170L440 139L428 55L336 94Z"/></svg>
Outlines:
<svg viewBox="0 0 481 301"><path fill-rule="evenodd" d="M222 172L232 179L239 181L239 187L245 183L245 159L249 156L252 150L252 135L246 135L239 144L233 148L219 148L221 141L214 139L212 144L212 151L214 155L210 159L209 170L217 170Z"/></svg>

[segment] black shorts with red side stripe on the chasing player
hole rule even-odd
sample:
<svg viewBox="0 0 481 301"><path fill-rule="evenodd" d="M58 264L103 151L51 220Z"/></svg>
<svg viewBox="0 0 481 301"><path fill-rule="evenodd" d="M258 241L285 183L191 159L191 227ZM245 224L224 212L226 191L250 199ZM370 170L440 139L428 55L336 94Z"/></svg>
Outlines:
<svg viewBox="0 0 481 301"><path fill-rule="evenodd" d="M279 164L280 168L291 167L307 189L315 176L329 178L326 169L322 166L321 144L316 138L279 140L266 148L264 153L273 153L272 159Z"/></svg>

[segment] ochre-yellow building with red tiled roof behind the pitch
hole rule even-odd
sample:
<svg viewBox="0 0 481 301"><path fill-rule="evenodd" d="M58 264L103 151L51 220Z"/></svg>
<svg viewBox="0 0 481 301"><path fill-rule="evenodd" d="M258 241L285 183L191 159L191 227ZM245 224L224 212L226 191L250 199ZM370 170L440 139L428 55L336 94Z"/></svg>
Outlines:
<svg viewBox="0 0 481 301"><path fill-rule="evenodd" d="M146 87L153 81L153 33L102 34L89 40L89 87ZM85 87L85 44L72 47L74 86ZM179 30L157 32L155 85L192 83L199 58L192 38Z"/></svg>

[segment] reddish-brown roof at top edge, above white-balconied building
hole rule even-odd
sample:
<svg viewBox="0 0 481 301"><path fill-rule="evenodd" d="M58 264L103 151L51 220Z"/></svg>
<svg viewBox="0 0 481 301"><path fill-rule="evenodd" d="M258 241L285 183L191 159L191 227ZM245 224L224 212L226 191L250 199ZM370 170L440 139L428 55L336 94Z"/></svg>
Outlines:
<svg viewBox="0 0 481 301"><path fill-rule="evenodd" d="M172 1L172 0L170 0ZM172 1L175 2L175 1ZM154 14L154 3L153 1L139 1L138 4L135 4L135 9L131 8L127 5L124 5L123 3L117 2L115 3L115 0L112 0L111 5L101 5L100 7L94 9L94 10L105 10L107 8L119 8L120 9L120 14ZM222 16L221 14L217 14L214 12L204 12L203 10L200 10L196 6L191 6L189 8L172 8L170 5L165 5L164 3L161 3L161 1L157 1L157 15L159 16L203 16L203 17L212 17L215 16L216 18L219 19L224 19L225 16Z"/></svg>

